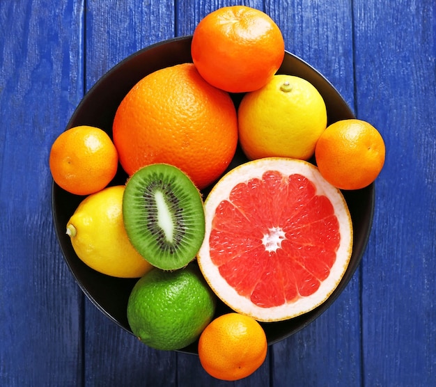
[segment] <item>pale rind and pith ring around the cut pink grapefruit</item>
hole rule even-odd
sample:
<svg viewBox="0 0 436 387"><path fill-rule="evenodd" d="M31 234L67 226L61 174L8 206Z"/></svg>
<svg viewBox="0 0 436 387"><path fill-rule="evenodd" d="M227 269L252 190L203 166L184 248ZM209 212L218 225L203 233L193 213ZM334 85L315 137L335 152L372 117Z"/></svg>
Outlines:
<svg viewBox="0 0 436 387"><path fill-rule="evenodd" d="M236 290L228 285L219 273L218 267L210 258L209 238L212 230L212 219L215 210L222 200L228 196L236 184L248 181L254 177L261 178L265 171L279 171L283 175L295 173L309 178L316 186L316 194L324 195L334 207L334 213L338 219L341 241L336 251L336 260L332 265L329 275L320 284L316 292L308 297L299 297L296 301L283 303L281 306L263 308L257 306L250 299L241 296ZM299 159L283 157L268 157L249 161L228 172L215 184L210 194L205 199L205 238L198 251L198 265L206 281L217 294L219 299L238 313L248 315L260 322L277 322L297 317L320 306L334 292L341 282L343 275L350 262L352 253L352 221L348 205L340 190L329 184L316 166Z"/></svg>

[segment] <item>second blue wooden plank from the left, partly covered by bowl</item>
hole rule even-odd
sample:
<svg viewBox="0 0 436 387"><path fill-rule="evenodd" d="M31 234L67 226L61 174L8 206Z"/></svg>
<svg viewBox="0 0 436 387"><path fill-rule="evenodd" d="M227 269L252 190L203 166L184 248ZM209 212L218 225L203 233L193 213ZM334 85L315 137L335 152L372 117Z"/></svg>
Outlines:
<svg viewBox="0 0 436 387"><path fill-rule="evenodd" d="M91 1L86 6L86 89L137 50L174 36L172 1ZM85 303L85 386L171 386L176 354L143 345Z"/></svg>

